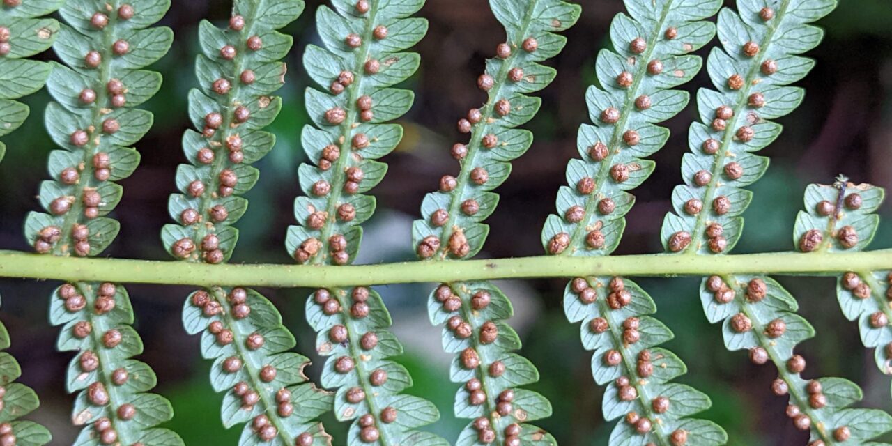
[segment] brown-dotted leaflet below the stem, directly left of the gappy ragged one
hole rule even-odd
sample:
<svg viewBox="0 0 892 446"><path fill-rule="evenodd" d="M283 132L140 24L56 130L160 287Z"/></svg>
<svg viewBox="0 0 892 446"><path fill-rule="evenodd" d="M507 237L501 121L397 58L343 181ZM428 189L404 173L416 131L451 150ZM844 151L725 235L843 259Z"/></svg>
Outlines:
<svg viewBox="0 0 892 446"><path fill-rule="evenodd" d="M672 351L657 347L671 340L673 333L649 316L657 307L640 286L618 277L576 278L566 287L564 310L571 322L582 322L582 345L593 351L592 375L598 384L607 384L604 417L623 417L610 444L671 444L671 438L679 435L686 435L690 444L728 441L719 425L689 418L712 403L705 393L671 382L687 368ZM617 358L621 360L616 362ZM668 401L665 412L657 410L657 399ZM630 413L638 415L630 419ZM652 428L640 434L640 423Z"/></svg>

